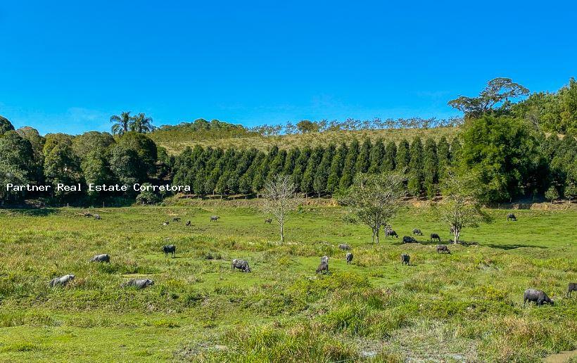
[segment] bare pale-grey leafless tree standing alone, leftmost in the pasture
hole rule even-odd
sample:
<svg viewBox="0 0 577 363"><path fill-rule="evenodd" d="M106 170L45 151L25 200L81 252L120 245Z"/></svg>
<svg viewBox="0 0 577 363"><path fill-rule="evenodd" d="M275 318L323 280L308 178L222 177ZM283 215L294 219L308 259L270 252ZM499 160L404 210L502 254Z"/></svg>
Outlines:
<svg viewBox="0 0 577 363"><path fill-rule="evenodd" d="M284 242L284 224L290 213L298 204L295 185L286 175L277 175L266 182L262 196L265 198L262 209L272 215L280 227L281 243Z"/></svg>

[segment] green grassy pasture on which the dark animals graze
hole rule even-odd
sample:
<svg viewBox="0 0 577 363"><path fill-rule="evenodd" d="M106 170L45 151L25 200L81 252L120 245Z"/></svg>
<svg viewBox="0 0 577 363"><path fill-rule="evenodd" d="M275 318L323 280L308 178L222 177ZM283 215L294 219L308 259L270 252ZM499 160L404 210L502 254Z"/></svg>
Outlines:
<svg viewBox="0 0 577 363"><path fill-rule="evenodd" d="M375 246L326 206L302 208L280 245L256 203L91 210L100 221L72 208L0 210L0 361L538 362L577 349L577 296L564 298L577 281L576 210L518 210L517 222L489 210L492 223L462 235L478 244L439 255L426 236ZM173 216L182 222L161 225ZM449 238L427 208L403 210L393 227ZM160 250L168 243L177 258ZM353 247L352 265L339 243ZM90 264L96 253L112 263ZM315 276L325 254L331 274ZM233 258L253 272L233 272ZM46 286L68 273L72 285ZM156 284L119 287L132 276ZM528 287L556 304L523 308Z"/></svg>

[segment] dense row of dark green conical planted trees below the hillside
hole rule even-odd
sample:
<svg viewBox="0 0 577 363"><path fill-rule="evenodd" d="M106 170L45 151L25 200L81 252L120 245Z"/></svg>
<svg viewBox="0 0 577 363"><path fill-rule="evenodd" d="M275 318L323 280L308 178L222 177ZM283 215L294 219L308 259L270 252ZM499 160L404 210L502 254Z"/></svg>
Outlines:
<svg viewBox="0 0 577 363"><path fill-rule="evenodd" d="M456 162L459 150L457 139L449 144L445 137L438 142L431 138L423 142L418 136L398 144L364 139L288 151L273 147L267 153L255 148L224 151L196 146L176 158L174 183L189 185L199 195L258 196L267 180L284 174L291 177L296 191L321 196L347 189L357 173L396 171L407 175L407 189L412 196L424 193L432 197L438 192L438 181Z"/></svg>

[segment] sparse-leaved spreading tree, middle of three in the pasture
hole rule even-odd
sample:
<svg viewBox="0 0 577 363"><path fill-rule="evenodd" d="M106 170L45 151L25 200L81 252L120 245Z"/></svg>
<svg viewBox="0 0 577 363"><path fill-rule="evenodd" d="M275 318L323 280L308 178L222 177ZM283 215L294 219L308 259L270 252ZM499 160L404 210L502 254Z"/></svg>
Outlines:
<svg viewBox="0 0 577 363"><path fill-rule="evenodd" d="M373 242L379 243L381 226L391 222L403 204L402 197L406 194L403 181L405 178L395 173L359 173L353 185L337 199L348 205L356 222L372 229Z"/></svg>

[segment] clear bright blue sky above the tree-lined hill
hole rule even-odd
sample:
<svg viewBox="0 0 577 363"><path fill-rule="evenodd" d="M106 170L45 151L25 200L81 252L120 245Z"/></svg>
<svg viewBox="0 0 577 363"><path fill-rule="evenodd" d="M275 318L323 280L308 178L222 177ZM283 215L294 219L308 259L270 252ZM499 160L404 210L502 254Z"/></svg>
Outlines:
<svg viewBox="0 0 577 363"><path fill-rule="evenodd" d="M443 118L494 77L577 77L575 1L394 3L2 1L0 115L42 134L108 130L122 110L155 125Z"/></svg>

